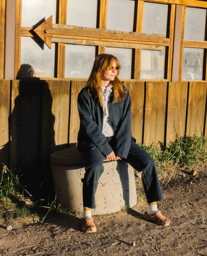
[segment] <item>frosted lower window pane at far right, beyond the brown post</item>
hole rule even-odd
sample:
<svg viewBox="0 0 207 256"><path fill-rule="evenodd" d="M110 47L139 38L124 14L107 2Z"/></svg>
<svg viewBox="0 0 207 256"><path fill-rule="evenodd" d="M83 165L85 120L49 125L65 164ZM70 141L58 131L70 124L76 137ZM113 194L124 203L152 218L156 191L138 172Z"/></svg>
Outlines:
<svg viewBox="0 0 207 256"><path fill-rule="evenodd" d="M183 48L183 80L202 80L204 49Z"/></svg>

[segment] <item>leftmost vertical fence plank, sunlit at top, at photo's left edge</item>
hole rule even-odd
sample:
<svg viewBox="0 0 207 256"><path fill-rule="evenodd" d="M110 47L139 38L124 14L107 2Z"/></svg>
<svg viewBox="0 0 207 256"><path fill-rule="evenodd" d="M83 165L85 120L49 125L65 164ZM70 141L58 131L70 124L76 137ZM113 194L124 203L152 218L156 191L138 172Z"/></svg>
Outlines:
<svg viewBox="0 0 207 256"><path fill-rule="evenodd" d="M0 168L9 161L10 81L0 80Z"/></svg>

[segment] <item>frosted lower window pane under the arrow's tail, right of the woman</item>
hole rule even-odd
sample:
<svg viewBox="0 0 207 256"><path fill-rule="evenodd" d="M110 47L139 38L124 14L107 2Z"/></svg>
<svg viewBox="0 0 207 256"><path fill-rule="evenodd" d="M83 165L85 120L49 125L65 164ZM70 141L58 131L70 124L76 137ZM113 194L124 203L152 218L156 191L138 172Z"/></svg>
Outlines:
<svg viewBox="0 0 207 256"><path fill-rule="evenodd" d="M165 51L141 50L140 79L164 79Z"/></svg>

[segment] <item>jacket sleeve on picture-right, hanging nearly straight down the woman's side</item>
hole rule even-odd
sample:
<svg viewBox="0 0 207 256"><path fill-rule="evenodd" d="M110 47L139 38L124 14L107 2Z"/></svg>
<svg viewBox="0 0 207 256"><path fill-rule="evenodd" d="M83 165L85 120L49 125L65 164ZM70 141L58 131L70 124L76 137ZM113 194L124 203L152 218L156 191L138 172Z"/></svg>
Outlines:
<svg viewBox="0 0 207 256"><path fill-rule="evenodd" d="M124 101L124 108L122 118L118 124L115 132L116 139L116 155L118 157L127 158L130 145L132 143L132 131L131 131L131 99L129 91L127 91L127 98Z"/></svg>

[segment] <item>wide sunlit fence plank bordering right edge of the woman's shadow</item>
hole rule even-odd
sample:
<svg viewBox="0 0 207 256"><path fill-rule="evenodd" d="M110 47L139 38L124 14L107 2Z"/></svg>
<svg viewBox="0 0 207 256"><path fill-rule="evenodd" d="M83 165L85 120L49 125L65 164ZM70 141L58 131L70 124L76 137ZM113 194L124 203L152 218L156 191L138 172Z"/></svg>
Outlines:
<svg viewBox="0 0 207 256"><path fill-rule="evenodd" d="M50 119L50 153L68 146L70 81L51 80L52 117Z"/></svg>

